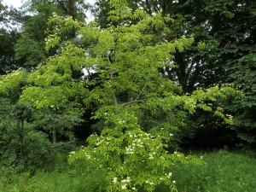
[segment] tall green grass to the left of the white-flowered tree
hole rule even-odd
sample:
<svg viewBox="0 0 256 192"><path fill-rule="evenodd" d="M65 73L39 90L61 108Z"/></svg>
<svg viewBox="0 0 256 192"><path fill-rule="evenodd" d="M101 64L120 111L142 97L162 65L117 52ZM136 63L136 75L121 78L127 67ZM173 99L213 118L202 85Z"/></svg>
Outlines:
<svg viewBox="0 0 256 192"><path fill-rule="evenodd" d="M54 168L40 169L33 175L30 172L0 175L0 192L100 192L105 188L106 174L84 164L70 166L67 156L59 155Z"/></svg>

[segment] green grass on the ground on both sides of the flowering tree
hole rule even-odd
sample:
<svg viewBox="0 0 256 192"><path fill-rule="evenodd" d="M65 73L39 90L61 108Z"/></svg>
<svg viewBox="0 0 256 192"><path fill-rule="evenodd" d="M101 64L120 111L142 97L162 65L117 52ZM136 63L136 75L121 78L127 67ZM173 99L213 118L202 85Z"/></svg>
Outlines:
<svg viewBox="0 0 256 192"><path fill-rule="evenodd" d="M256 155L220 150L200 154L204 165L175 165L173 179L179 192L256 192ZM86 171L86 173L85 173ZM99 192L104 174L60 160L54 170L0 175L1 192ZM165 190L166 191L166 190ZM157 192L163 192L157 191Z"/></svg>

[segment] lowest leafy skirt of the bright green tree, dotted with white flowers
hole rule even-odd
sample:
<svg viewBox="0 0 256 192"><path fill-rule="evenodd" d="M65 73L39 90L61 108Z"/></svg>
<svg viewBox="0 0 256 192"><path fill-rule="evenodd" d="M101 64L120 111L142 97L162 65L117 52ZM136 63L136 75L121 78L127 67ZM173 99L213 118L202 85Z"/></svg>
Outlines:
<svg viewBox="0 0 256 192"><path fill-rule="evenodd" d="M167 185L175 191L172 172L168 168L175 162L188 162L183 154L168 154L160 137L153 137L139 128L113 137L113 129L102 136L88 138L88 147L70 155L69 162L86 163L108 168L109 191L153 191L158 185Z"/></svg>

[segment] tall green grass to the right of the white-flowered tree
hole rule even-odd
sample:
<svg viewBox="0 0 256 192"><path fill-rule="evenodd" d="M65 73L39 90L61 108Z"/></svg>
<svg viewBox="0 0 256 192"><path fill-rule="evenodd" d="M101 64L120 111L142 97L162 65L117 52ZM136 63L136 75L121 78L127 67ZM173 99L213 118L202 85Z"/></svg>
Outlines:
<svg viewBox="0 0 256 192"><path fill-rule="evenodd" d="M205 165L176 165L172 172L181 192L256 192L253 152L220 150L202 155Z"/></svg>

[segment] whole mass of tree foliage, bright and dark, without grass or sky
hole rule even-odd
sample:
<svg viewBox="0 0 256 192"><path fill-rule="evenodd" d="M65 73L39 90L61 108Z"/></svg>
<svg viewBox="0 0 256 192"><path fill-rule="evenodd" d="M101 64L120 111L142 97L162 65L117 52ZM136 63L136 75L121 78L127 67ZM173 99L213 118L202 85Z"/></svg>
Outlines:
<svg viewBox="0 0 256 192"><path fill-rule="evenodd" d="M178 151L254 146L255 3L98 0L89 23L87 9L0 1L6 172L70 153L74 170L101 173L91 191L177 191L177 165L204 165Z"/></svg>

